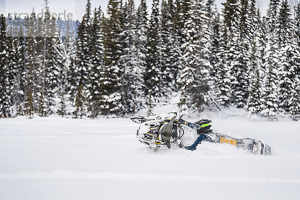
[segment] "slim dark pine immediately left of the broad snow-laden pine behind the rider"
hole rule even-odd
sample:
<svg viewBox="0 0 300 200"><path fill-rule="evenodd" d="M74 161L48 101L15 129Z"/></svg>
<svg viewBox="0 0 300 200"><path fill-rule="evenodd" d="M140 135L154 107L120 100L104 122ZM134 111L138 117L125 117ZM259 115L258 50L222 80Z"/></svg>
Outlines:
<svg viewBox="0 0 300 200"><path fill-rule="evenodd" d="M161 3L161 91L169 95L176 91L178 42L174 31L174 4L172 0Z"/></svg>

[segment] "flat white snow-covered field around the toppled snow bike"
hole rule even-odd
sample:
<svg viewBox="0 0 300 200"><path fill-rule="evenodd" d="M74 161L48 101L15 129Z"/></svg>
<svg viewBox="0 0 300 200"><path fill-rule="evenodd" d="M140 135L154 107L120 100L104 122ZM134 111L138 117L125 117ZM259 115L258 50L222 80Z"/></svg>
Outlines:
<svg viewBox="0 0 300 200"><path fill-rule="evenodd" d="M128 118L0 119L0 199L300 199L300 122L212 119L273 155L209 143L153 151Z"/></svg>

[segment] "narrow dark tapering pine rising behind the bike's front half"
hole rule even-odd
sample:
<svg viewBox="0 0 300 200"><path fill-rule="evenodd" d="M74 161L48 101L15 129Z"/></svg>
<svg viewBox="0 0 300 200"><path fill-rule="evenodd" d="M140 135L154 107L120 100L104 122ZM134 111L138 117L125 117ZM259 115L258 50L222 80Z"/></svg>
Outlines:
<svg viewBox="0 0 300 200"><path fill-rule="evenodd" d="M159 1L153 0L147 35L146 68L143 74L146 102L161 97L161 32ZM153 98L153 99L150 99Z"/></svg>

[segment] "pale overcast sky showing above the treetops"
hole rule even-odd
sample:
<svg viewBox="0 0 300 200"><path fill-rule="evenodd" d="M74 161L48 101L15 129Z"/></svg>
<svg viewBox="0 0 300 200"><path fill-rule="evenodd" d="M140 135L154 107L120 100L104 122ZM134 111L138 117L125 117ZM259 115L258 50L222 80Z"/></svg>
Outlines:
<svg viewBox="0 0 300 200"><path fill-rule="evenodd" d="M123 0L124 1L124 0ZM140 0L134 0L135 4L138 5ZM148 8L151 8L152 0L146 0ZM221 2L225 0L216 0L217 7L221 7ZM268 7L269 0L258 0L258 6L262 12ZM101 6L102 10L106 12L108 0L91 0L92 7ZM71 13L68 16L72 15L73 19L81 20L81 17L84 13L84 6L86 0L49 0L49 8L51 13L62 13L60 14L61 18L66 18L67 13ZM41 12L42 7L44 7L44 0L0 0L0 13L30 13L32 8L36 13ZM23 16L22 14L21 16Z"/></svg>

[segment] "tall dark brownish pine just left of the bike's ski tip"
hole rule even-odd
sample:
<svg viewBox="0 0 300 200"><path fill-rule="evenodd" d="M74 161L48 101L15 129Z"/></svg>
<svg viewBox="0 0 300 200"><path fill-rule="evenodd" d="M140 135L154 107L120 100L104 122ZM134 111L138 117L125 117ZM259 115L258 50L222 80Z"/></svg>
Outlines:
<svg viewBox="0 0 300 200"><path fill-rule="evenodd" d="M118 60L121 52L120 43L120 12L121 1L109 0L107 18L104 20L104 74L100 78L99 99L101 114L119 114L121 111L120 65Z"/></svg>

